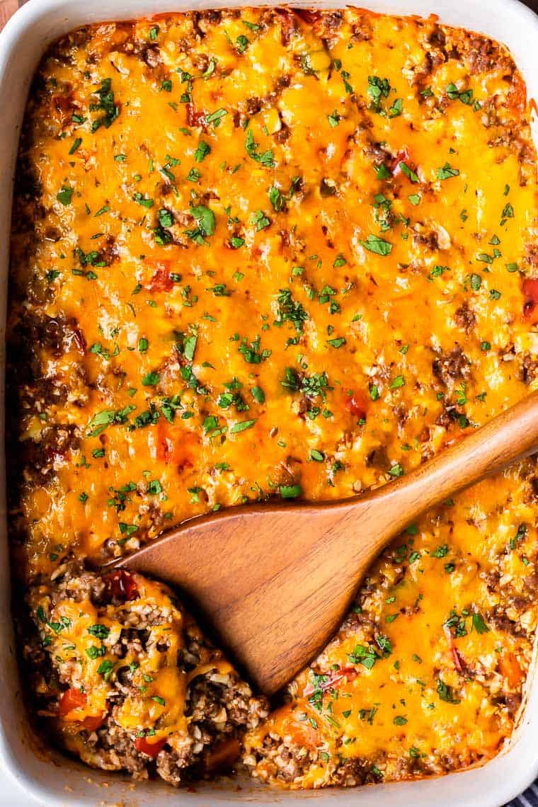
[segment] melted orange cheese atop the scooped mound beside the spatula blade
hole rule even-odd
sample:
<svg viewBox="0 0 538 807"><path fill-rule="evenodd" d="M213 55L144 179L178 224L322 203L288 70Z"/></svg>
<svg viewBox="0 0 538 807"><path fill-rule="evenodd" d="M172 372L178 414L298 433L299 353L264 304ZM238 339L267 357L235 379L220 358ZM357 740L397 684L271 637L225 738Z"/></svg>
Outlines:
<svg viewBox="0 0 538 807"><path fill-rule="evenodd" d="M140 654L134 645L129 646L121 660L123 666L133 667L132 692L136 690L136 694L127 696L115 710L115 721L123 729L137 733L159 725L148 738L150 743L168 738L174 732L186 732L185 692L187 678L192 673L186 675L177 667L177 656L184 646L183 617L166 589L140 575L133 580L137 590L131 601L119 607L108 604L104 613L87 599L78 601L66 596L52 604L47 587L42 591L38 589L32 596L31 604L41 622L44 645L55 659L62 658L69 650L70 688L85 696L81 698L84 701L81 705L75 699L73 709L60 708L63 728L68 733L73 728L79 730L78 724L87 718L102 720L113 692L111 674L118 664L115 645L123 627L128 625L125 617L129 612L152 611L158 612L159 621L156 625L150 623L148 652ZM161 642L166 645L164 652L158 650ZM79 659L78 663L73 665L73 659ZM230 668L229 664L224 664ZM194 675L199 673L195 667Z"/></svg>

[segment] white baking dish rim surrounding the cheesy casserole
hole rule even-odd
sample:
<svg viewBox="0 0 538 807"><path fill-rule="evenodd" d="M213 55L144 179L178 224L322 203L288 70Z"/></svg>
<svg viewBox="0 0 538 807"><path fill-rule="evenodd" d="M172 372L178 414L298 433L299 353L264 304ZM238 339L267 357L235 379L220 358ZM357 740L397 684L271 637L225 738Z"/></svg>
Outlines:
<svg viewBox="0 0 538 807"><path fill-rule="evenodd" d="M6 278L10 205L15 155L27 90L44 48L56 37L85 23L131 19L168 10L277 5L240 0L30 0L0 35L0 384L2 407L5 364ZM294 6L338 7L337 2L298 2ZM507 44L523 73L530 97L538 98L538 17L518 0L357 0L357 5L389 13L439 15L441 22L481 31ZM534 121L538 142L538 122ZM0 445L3 424L0 424ZM7 469L9 480L9 468ZM0 759L11 776L41 805L230 805L238 802L363 807L498 807L538 775L538 674L528 681L523 719L509 745L492 761L461 773L412 783L355 790L280 792L250 781L203 784L197 792L174 791L161 781L133 784L126 777L90 771L59 754L40 751L27 724L10 626L10 580L6 545L5 469L0 467ZM536 656L536 653L535 653ZM0 794L2 798L2 794ZM29 796L29 803L31 798Z"/></svg>

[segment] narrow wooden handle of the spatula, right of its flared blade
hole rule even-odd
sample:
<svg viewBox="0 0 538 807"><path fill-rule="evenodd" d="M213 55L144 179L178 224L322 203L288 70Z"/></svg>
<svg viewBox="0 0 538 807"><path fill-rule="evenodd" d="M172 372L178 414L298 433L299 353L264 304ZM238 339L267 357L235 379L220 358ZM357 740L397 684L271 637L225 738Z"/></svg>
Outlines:
<svg viewBox="0 0 538 807"><path fill-rule="evenodd" d="M410 475L402 476L390 487L377 491L378 497L398 500L398 515L394 511L391 534L403 529L410 518L449 495L479 482L486 476L503 470L511 462L538 452L538 391L494 417L481 429L461 436L461 440ZM376 495L373 497L376 498ZM383 525L384 526L384 525ZM383 529L380 530L382 542Z"/></svg>

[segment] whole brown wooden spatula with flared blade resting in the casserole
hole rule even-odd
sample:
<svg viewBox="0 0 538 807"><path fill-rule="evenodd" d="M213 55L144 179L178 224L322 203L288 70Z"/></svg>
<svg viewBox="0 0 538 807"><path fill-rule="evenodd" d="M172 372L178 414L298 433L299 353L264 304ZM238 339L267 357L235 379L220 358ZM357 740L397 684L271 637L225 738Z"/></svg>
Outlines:
<svg viewBox="0 0 538 807"><path fill-rule="evenodd" d="M187 592L262 692L272 694L331 638L392 537L452 493L536 451L538 391L372 493L230 508L187 521L108 567Z"/></svg>

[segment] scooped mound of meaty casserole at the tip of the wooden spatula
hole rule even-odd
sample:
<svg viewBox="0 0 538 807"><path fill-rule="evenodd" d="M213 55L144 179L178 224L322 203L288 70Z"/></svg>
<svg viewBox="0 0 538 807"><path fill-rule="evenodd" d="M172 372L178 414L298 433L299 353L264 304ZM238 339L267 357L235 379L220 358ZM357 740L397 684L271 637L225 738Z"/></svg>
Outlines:
<svg viewBox="0 0 538 807"><path fill-rule="evenodd" d="M229 769L265 699L202 636L173 592L76 562L31 587L39 641L27 646L40 715L92 767L180 784Z"/></svg>

